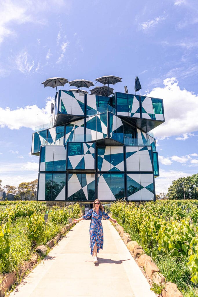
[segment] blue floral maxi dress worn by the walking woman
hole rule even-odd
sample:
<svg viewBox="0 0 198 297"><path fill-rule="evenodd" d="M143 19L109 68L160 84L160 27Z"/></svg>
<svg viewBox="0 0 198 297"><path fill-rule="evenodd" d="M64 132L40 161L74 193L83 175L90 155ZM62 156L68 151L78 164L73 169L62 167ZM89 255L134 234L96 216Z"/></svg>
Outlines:
<svg viewBox="0 0 198 297"><path fill-rule="evenodd" d="M106 212L102 212L99 209L99 214L96 213L95 210L90 209L87 214L83 216L83 220L88 219L90 216L91 217L91 224L89 228L89 234L90 234L90 249L91 249L91 255L93 256L93 250L94 250L94 245L96 243L97 246L97 253L99 253L99 249L103 249L103 228L102 228L102 216L105 219L109 219L110 217Z"/></svg>

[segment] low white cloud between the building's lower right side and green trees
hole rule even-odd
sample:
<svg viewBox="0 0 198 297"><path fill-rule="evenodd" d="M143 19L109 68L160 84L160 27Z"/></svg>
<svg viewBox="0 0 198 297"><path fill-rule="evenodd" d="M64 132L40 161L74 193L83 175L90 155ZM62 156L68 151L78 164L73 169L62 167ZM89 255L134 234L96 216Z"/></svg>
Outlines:
<svg viewBox="0 0 198 297"><path fill-rule="evenodd" d="M186 173L182 171L176 171L176 170L169 170L165 171L160 169L159 170L160 176L155 178L155 189L156 194L165 192L168 192L168 188L172 185L172 181L180 178L180 177L187 177L194 173Z"/></svg>

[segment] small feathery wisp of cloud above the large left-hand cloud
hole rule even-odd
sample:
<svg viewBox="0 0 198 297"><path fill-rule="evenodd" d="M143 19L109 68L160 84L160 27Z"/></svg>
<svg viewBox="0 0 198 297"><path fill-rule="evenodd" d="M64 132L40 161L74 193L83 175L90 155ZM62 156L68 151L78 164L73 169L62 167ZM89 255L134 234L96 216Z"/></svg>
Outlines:
<svg viewBox="0 0 198 297"><path fill-rule="evenodd" d="M28 74L34 67L34 60L28 54L27 51L22 51L15 57L16 67L17 69L24 73Z"/></svg>

